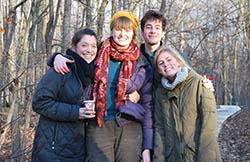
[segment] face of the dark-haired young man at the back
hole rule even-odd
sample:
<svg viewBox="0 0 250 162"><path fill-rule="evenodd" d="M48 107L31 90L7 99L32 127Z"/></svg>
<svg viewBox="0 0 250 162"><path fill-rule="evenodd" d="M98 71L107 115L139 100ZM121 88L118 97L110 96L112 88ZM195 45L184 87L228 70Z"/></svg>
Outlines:
<svg viewBox="0 0 250 162"><path fill-rule="evenodd" d="M160 45L161 39L164 36L162 22L157 19L147 20L142 31L142 36L146 44L150 46Z"/></svg>

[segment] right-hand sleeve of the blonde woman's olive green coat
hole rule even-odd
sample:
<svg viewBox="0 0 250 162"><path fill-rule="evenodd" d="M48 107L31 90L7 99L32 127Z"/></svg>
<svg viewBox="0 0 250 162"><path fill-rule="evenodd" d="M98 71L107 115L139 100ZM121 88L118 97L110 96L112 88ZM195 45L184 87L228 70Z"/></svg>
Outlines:
<svg viewBox="0 0 250 162"><path fill-rule="evenodd" d="M199 109L201 112L199 161L221 161L216 139L217 114L213 92L201 86Z"/></svg>

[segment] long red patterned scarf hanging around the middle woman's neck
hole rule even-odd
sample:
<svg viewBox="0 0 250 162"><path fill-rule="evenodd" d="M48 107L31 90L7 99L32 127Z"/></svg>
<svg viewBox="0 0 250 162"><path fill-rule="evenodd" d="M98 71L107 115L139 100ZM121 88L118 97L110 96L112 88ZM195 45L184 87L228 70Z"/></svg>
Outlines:
<svg viewBox="0 0 250 162"><path fill-rule="evenodd" d="M126 104L125 92L127 84L133 74L136 60L139 58L139 55L139 47L134 41L130 43L127 49L121 49L112 38L108 38L103 42L95 61L96 70L93 89L93 96L96 100L97 123L99 127L102 126L102 121L107 111L106 99L110 57L116 61L122 62L115 97L115 105L117 108Z"/></svg>

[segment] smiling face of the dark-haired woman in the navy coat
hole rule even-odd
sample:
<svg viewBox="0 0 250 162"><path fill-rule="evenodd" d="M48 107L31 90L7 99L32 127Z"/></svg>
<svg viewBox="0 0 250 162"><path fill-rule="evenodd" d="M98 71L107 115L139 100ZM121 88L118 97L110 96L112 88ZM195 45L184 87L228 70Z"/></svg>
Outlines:
<svg viewBox="0 0 250 162"><path fill-rule="evenodd" d="M76 46L72 47L72 50L87 63L90 63L94 60L97 53L97 40L92 35L84 35Z"/></svg>

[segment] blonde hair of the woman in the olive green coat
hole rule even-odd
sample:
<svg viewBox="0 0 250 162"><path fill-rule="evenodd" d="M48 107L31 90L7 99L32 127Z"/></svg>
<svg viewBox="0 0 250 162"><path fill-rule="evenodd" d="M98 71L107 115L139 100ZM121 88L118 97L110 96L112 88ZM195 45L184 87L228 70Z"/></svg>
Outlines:
<svg viewBox="0 0 250 162"><path fill-rule="evenodd" d="M158 60L158 57L160 56L160 54L162 54L163 52L168 52L169 54L171 54L180 64L182 67L187 67L189 70L193 70L187 63L186 61L183 59L183 57L181 56L181 54L171 48L171 47L168 47L166 45L162 46L155 54L155 57L154 57L154 64L155 64L155 67L156 69L158 70L158 65L157 65L157 60Z"/></svg>

